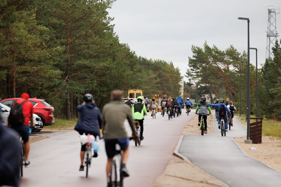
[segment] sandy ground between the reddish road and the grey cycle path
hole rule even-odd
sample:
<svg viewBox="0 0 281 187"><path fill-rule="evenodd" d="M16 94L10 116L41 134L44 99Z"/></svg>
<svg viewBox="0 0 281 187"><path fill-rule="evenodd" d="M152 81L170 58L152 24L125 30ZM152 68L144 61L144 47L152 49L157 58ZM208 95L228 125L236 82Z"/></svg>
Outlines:
<svg viewBox="0 0 281 187"><path fill-rule="evenodd" d="M212 132L211 121L213 116L207 118L207 131ZM198 115L187 123L182 129L182 135L200 135L198 127ZM225 186L219 180L214 179L206 172L195 167L192 163L181 160L178 157L171 160L163 174L158 177L154 187L186 187L186 186Z"/></svg>

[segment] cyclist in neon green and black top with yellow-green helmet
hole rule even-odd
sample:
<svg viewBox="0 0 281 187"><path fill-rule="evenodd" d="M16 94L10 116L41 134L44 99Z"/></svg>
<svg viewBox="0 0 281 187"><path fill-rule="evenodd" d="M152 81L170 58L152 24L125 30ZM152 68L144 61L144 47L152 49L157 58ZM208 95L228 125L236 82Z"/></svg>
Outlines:
<svg viewBox="0 0 281 187"><path fill-rule="evenodd" d="M132 116L133 119L138 120L141 126L141 140L144 139L143 137L143 116L146 115L146 108L142 104L143 98L139 96L138 98L138 103L133 104L132 106Z"/></svg>

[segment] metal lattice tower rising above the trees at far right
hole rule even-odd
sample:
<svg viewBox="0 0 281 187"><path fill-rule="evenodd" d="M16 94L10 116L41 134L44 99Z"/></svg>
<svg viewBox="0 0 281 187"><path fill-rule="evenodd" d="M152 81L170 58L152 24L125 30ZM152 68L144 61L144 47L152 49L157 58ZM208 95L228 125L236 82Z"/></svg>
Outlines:
<svg viewBox="0 0 281 187"><path fill-rule="evenodd" d="M276 15L280 13L280 8L272 8L277 5L265 5L268 6L268 25L267 25L267 41L266 41L266 58L273 58L273 53L271 47L274 46L277 36L279 36L278 30L276 28ZM279 10L277 13L276 10Z"/></svg>

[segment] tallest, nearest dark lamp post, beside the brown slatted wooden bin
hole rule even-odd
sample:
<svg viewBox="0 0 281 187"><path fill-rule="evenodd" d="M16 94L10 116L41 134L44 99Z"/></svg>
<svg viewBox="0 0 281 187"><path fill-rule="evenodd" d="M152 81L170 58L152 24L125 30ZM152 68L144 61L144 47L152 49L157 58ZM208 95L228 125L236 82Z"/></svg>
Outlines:
<svg viewBox="0 0 281 187"><path fill-rule="evenodd" d="M247 64L247 74L248 74L248 82L247 82L247 140L245 143L252 143L250 140L250 19L249 18L238 18L241 20L247 20L248 22L248 64Z"/></svg>

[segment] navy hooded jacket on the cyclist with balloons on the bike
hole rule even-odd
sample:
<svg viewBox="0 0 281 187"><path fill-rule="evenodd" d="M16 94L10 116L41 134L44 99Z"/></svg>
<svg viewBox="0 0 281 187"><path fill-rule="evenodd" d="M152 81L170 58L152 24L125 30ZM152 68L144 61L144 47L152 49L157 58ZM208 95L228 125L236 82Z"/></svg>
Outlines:
<svg viewBox="0 0 281 187"><path fill-rule="evenodd" d="M74 129L80 134L85 132L91 135L100 135L102 117L96 104L88 102L85 105L77 106L77 110L81 112L81 115Z"/></svg>

